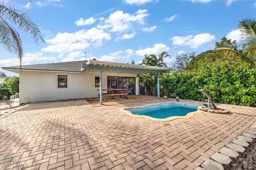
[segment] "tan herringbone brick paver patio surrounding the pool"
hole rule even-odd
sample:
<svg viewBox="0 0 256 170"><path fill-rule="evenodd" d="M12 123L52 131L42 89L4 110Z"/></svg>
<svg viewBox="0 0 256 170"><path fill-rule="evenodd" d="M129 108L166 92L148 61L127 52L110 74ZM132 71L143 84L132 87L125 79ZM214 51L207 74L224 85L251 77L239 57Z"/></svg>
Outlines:
<svg viewBox="0 0 256 170"><path fill-rule="evenodd" d="M0 169L192 170L256 122L254 107L220 107L232 115L152 121L84 99L32 103L0 119Z"/></svg>

